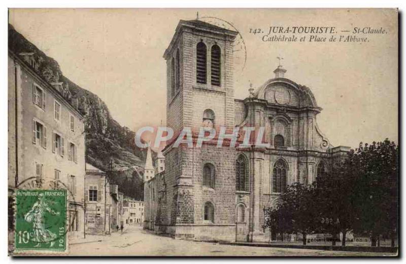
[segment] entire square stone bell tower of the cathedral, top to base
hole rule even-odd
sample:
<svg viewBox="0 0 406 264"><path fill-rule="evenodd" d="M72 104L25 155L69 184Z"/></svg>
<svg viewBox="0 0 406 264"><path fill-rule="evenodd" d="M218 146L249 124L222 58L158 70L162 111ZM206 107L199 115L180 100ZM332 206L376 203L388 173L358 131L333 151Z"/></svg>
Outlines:
<svg viewBox="0 0 406 264"><path fill-rule="evenodd" d="M174 129L175 136L183 128L198 132L200 127L234 127L232 43L237 34L197 19L180 20L163 55L167 66L166 126ZM173 142L168 142L163 150L164 177L166 183L171 183L166 194L173 197L168 199L171 204L166 205L171 210L167 214L171 216L173 237L193 239L201 233L199 228L209 221L204 213L206 203L213 204L213 207L219 204L218 212L234 215L233 203L221 208L222 201L233 197L230 194L234 195L234 183L223 187L220 184L223 181L218 178L218 185L210 189L212 193L201 193L202 188L209 190L201 180L202 167L205 165L202 159L211 159L215 163L222 155L233 155L218 153L223 150L214 154L214 149L210 148L212 146L174 148ZM207 153L211 153L212 157ZM232 168L227 171L232 171ZM211 220L219 225L224 221L234 223L233 218L214 217ZM185 224L192 226L186 230ZM232 227L231 224L228 226Z"/></svg>

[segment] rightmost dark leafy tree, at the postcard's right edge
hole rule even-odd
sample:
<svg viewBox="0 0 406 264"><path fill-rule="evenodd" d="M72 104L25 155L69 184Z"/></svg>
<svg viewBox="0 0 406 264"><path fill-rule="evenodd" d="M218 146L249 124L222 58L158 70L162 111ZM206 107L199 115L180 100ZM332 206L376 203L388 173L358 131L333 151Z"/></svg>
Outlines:
<svg viewBox="0 0 406 264"><path fill-rule="evenodd" d="M394 246L398 219L398 146L385 139L368 145L362 142L351 153L357 164L354 198L359 218L354 230L369 234L371 246L381 234L389 234Z"/></svg>

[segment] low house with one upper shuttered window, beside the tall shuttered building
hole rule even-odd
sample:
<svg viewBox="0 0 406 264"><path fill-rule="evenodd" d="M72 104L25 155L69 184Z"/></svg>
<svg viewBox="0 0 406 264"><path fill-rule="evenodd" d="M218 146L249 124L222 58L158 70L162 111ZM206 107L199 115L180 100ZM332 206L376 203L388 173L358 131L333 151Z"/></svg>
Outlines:
<svg viewBox="0 0 406 264"><path fill-rule="evenodd" d="M106 172L86 163L86 233L106 234L116 231L118 186L110 185Z"/></svg>

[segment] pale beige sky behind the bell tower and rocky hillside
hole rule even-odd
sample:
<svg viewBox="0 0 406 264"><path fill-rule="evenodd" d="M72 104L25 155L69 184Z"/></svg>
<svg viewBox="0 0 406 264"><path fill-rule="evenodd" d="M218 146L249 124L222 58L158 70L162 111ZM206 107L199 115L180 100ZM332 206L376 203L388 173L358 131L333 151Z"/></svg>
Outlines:
<svg viewBox="0 0 406 264"><path fill-rule="evenodd" d="M137 131L165 124L162 55L179 20L195 19L197 12L204 21L232 23L244 40L245 49L235 52L235 98L247 97L250 83L256 88L273 78L281 56L285 77L310 87L323 108L317 123L332 145L398 142L395 10L10 9L9 22L67 78L105 101L121 125ZM354 27L387 33L366 35L364 43L264 42L266 34L250 33L269 26L333 26L337 36Z"/></svg>

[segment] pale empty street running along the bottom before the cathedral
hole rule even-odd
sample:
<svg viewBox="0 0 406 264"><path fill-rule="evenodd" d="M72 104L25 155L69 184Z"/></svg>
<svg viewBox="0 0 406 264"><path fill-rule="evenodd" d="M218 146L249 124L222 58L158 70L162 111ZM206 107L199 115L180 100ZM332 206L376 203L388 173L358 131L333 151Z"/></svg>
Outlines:
<svg viewBox="0 0 406 264"><path fill-rule="evenodd" d="M101 240L101 241L100 241ZM69 246L71 256L388 256L390 253L220 245L161 237L139 225L110 236L87 236Z"/></svg>

